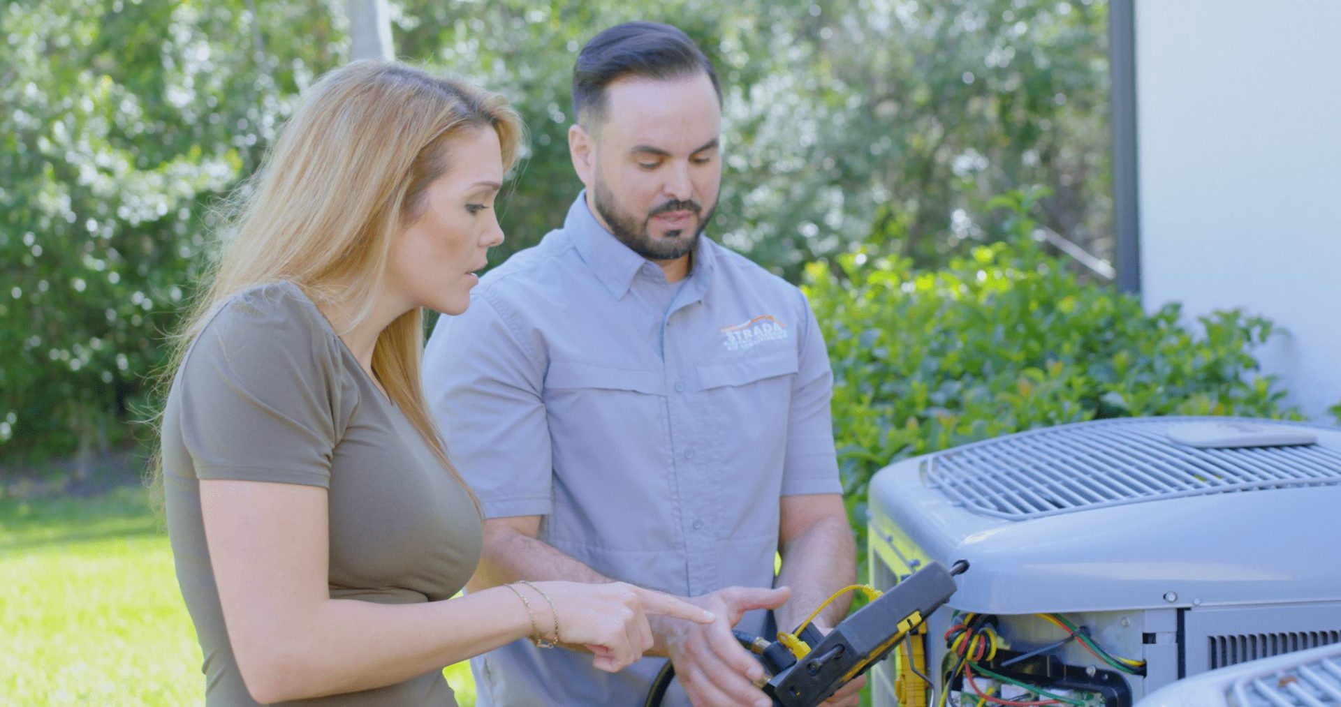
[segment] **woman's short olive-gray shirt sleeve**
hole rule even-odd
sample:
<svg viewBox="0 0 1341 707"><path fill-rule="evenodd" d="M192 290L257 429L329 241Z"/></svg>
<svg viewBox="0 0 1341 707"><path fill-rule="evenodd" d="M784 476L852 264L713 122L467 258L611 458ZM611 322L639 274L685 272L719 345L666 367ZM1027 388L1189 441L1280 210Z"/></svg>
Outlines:
<svg viewBox="0 0 1341 707"><path fill-rule="evenodd" d="M295 293L231 300L182 364L180 426L197 478L330 487L341 387L334 335Z"/></svg>

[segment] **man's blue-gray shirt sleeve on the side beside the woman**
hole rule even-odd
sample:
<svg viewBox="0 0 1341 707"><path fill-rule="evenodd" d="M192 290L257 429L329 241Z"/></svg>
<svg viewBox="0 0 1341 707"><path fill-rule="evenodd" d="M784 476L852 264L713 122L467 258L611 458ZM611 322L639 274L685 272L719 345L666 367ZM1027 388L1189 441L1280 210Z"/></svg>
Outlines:
<svg viewBox="0 0 1341 707"><path fill-rule="evenodd" d="M439 319L424 355L424 392L485 518L550 514L543 386L543 363L487 292L477 289L463 315Z"/></svg>

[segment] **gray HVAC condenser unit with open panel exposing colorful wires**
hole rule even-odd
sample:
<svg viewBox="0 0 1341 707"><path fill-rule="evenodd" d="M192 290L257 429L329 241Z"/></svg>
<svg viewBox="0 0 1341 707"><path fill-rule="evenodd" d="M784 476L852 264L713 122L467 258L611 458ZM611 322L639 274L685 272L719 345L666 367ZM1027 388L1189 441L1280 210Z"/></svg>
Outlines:
<svg viewBox="0 0 1341 707"><path fill-rule="evenodd" d="M1126 707L1181 678L1341 643L1341 430L1033 430L884 469L869 517L876 586L970 562L872 671L876 707Z"/></svg>

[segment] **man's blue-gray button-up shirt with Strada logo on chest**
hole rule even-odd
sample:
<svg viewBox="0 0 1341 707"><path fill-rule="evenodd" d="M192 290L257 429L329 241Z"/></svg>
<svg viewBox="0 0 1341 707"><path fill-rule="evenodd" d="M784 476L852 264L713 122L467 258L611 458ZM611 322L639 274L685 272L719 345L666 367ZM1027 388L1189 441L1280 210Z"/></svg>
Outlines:
<svg viewBox="0 0 1341 707"><path fill-rule="evenodd" d="M841 491L833 375L801 291L707 237L666 283L585 194L439 321L424 370L484 516L542 516L540 540L640 586L771 586L779 498ZM516 641L472 663L480 704L514 706L636 704L662 661L609 675Z"/></svg>

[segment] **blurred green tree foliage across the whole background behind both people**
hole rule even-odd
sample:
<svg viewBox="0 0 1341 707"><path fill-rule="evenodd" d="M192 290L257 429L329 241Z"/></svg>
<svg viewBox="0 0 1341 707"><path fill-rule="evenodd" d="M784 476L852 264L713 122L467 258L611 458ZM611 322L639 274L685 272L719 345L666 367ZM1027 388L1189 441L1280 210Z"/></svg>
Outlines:
<svg viewBox="0 0 1341 707"><path fill-rule="evenodd" d="M721 75L712 234L790 279L861 250L933 266L1003 234L994 194L1105 253L1101 0L389 3L397 55L506 94L531 130L503 200L536 242L579 183L579 47L673 23ZM115 438L212 242L296 94L347 58L345 3L51 0L0 9L0 454ZM388 137L394 139L394 137ZM115 422L114 424L107 424Z"/></svg>

